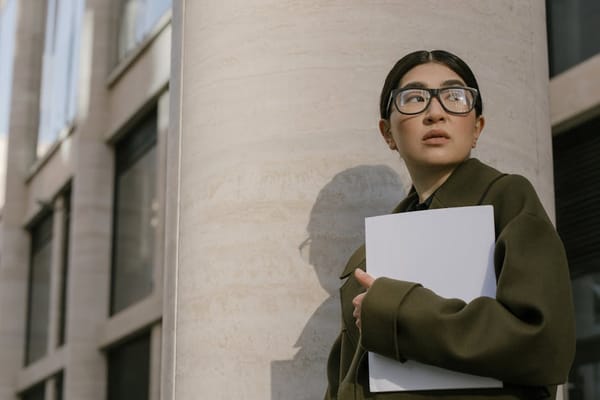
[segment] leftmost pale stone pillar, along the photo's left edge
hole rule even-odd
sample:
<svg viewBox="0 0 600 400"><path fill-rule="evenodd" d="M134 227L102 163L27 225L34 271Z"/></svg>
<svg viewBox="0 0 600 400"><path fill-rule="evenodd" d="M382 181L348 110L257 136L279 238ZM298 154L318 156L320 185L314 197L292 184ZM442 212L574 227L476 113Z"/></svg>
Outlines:
<svg viewBox="0 0 600 400"><path fill-rule="evenodd" d="M35 159L45 7L17 2L13 87L0 249L0 399L15 399L24 364L29 235L25 180ZM18 95L15 95L18 94Z"/></svg>

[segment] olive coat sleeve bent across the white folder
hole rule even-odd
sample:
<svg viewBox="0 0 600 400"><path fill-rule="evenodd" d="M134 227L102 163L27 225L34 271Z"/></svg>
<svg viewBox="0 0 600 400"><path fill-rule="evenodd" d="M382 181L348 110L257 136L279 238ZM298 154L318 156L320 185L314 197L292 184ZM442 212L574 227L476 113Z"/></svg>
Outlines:
<svg viewBox="0 0 600 400"><path fill-rule="evenodd" d="M400 361L507 383L562 383L575 348L562 242L525 178L499 180L484 203L495 211L496 299L465 303L418 283L379 278L362 304L361 344Z"/></svg>

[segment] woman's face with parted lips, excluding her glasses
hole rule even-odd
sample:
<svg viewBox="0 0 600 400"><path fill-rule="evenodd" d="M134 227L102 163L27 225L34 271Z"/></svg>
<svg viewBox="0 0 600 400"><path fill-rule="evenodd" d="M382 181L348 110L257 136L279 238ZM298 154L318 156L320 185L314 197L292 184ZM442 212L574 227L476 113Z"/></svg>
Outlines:
<svg viewBox="0 0 600 400"><path fill-rule="evenodd" d="M408 85L425 88L467 86L463 79L443 64L421 64L402 77L399 88ZM437 98L420 114L404 115L390 105L389 120L381 120L379 129L392 150L397 150L411 172L416 168L454 168L475 147L484 125L475 110L468 114L446 112Z"/></svg>

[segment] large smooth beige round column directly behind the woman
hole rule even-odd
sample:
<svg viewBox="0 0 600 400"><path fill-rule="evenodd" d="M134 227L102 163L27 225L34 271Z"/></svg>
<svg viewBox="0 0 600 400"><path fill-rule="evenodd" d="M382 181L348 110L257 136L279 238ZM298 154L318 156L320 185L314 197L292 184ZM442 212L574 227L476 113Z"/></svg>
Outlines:
<svg viewBox="0 0 600 400"><path fill-rule="evenodd" d="M164 399L315 399L337 276L409 184L377 131L394 62L478 76L481 159L553 213L543 2L174 2ZM169 222L169 219L173 218Z"/></svg>

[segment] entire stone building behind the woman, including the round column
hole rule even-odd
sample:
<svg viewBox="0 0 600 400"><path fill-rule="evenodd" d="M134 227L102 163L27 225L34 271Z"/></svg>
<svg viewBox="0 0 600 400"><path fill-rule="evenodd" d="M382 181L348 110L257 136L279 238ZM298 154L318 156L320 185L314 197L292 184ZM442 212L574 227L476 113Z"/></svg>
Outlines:
<svg viewBox="0 0 600 400"><path fill-rule="evenodd" d="M600 396L597 2L416 3L0 1L0 400L320 398L339 271L409 185L377 96L417 48L478 75L476 156L556 195L565 398Z"/></svg>

